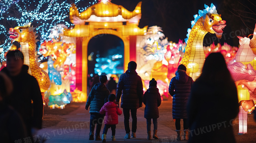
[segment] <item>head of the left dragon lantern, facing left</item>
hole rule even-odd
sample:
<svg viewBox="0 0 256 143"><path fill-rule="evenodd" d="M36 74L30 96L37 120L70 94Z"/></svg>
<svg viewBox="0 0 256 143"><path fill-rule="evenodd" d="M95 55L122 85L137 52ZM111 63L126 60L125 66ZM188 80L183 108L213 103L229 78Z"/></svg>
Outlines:
<svg viewBox="0 0 256 143"><path fill-rule="evenodd" d="M35 33L33 32L35 27L30 27L30 24L25 24L23 27L10 28L10 38L17 42L30 41Z"/></svg>

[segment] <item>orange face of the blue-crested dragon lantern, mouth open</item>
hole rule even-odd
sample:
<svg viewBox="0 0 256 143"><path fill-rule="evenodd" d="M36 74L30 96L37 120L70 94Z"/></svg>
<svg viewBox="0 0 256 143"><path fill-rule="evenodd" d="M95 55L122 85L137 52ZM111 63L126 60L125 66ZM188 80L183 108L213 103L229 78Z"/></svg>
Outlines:
<svg viewBox="0 0 256 143"><path fill-rule="evenodd" d="M210 32L212 34L216 34L218 39L221 39L223 28L226 21L222 20L221 15L214 14L214 13L207 13L203 22L203 27L207 32Z"/></svg>

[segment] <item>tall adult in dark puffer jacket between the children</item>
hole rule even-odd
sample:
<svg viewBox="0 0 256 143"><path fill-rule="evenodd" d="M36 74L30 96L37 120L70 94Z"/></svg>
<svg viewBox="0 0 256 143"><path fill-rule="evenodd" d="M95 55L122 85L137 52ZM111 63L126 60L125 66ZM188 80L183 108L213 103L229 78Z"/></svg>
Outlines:
<svg viewBox="0 0 256 143"><path fill-rule="evenodd" d="M124 138L130 138L130 110L132 116L132 137L136 137L137 109L142 107L143 85L140 76L136 72L136 68L136 62L129 62L128 70L119 77L117 84L116 101L119 103L121 98L121 108L123 108L124 128L126 132Z"/></svg>

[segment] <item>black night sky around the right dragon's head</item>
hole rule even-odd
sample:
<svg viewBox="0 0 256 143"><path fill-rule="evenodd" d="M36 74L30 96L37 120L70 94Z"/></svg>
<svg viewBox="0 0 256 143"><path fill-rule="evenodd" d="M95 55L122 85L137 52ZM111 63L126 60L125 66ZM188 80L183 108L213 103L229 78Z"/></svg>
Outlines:
<svg viewBox="0 0 256 143"><path fill-rule="evenodd" d="M256 1L255 0L112 0L111 2L117 5L122 5L127 10L133 11L136 5L142 1L141 6L141 19L139 27L144 26L159 26L162 27L163 34L168 37L168 41L178 42L179 39L186 38L187 29L191 28L191 22L194 20L193 15L198 14L198 10L203 10L204 4L210 6L213 3L217 9L218 14L222 15L222 19L226 21L226 27L224 28L225 37L220 40L221 45L226 42L229 45L238 46L238 38L235 36L248 36L253 33L253 29L256 23ZM252 2L253 4L251 4ZM247 6L242 6L243 5ZM247 12L254 12L253 14L242 13L238 10L245 10ZM239 12L240 14L251 17L254 19L242 18L235 16L233 13ZM251 29L246 29L246 26ZM242 31L249 31L242 35ZM235 31L236 35L234 35ZM241 34L240 34L241 33ZM245 33L245 32L244 32ZM212 39L215 38L215 34L206 34L203 45L212 44ZM218 40L215 40L217 45Z"/></svg>

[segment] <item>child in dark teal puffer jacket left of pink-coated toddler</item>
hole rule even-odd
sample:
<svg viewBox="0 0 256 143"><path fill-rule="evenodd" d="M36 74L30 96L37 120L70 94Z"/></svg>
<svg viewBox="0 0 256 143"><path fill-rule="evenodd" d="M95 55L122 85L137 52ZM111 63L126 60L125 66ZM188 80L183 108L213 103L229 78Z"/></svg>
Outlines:
<svg viewBox="0 0 256 143"><path fill-rule="evenodd" d="M108 95L110 94L109 90L105 86L108 79L107 76L101 75L99 77L99 82L96 83L86 102L85 109L88 110L90 106L90 134L89 134L89 140L94 140L94 128L95 124L97 124L96 127L96 134L95 134L95 140L101 140L100 138L100 130L103 122L104 115L101 115L99 113L101 107L108 102Z"/></svg>

